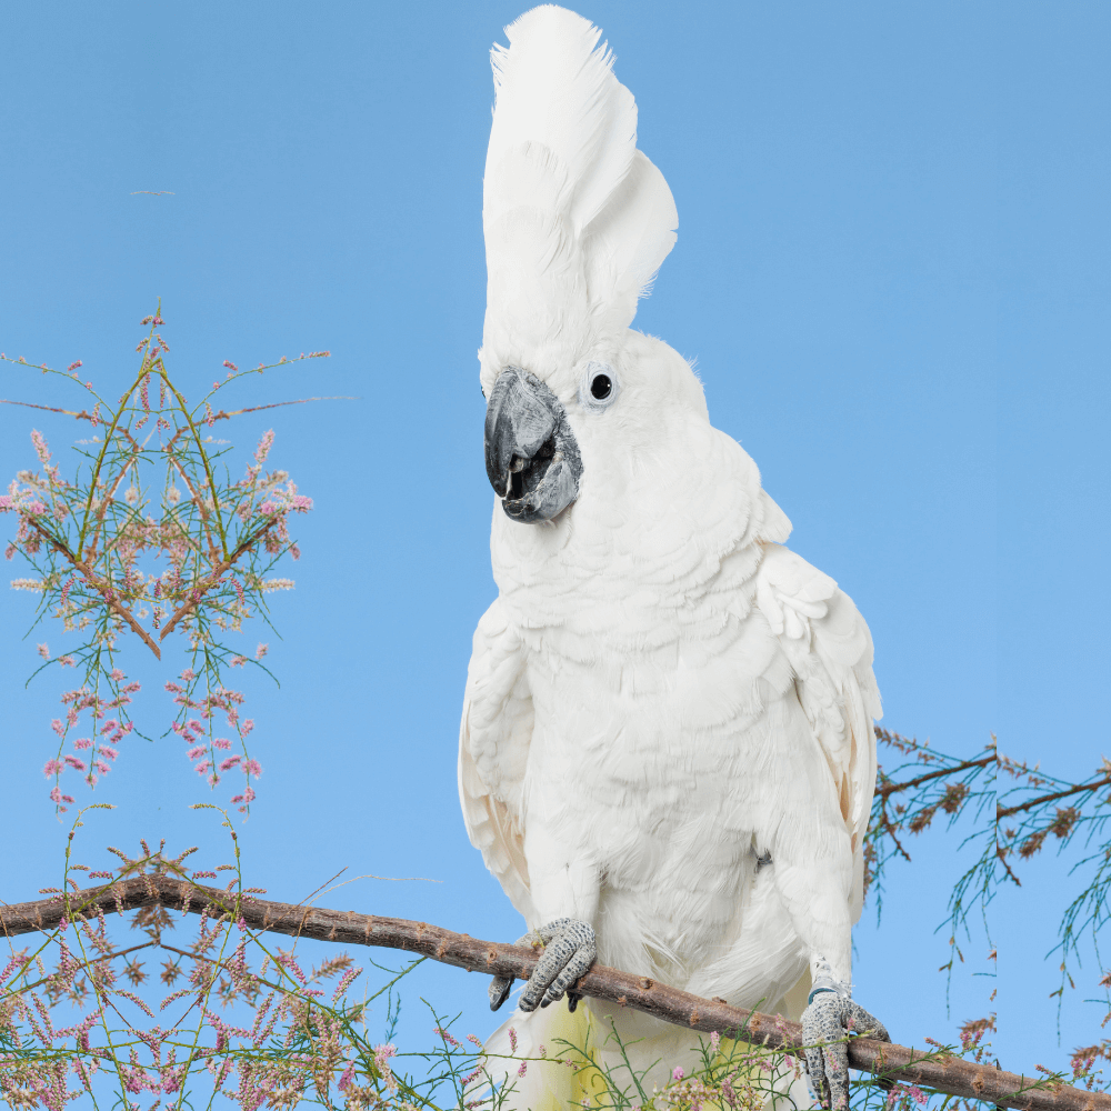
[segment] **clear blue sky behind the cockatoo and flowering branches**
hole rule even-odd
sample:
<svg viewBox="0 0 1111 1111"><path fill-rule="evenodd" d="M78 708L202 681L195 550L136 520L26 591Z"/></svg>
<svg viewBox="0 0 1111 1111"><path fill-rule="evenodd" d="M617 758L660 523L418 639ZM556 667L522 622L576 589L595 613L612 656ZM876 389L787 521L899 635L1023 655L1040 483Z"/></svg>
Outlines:
<svg viewBox="0 0 1111 1111"><path fill-rule="evenodd" d="M241 832L253 882L297 901L343 867L429 877L329 902L503 939L520 922L467 842L454 761L470 635L494 593L474 358L488 49L521 10L6 0L0 71L0 349L82 359L111 391L161 297L187 393L223 359L328 348L243 403L359 398L233 429L246 462L272 427L270 461L316 501L297 591L276 604L284 639L246 638L270 641L281 678L246 688L266 769ZM792 547L855 599L884 723L954 753L997 732L1057 774L1093 769L1111 748L1111 10L579 10L614 48L679 207L637 324L697 358L714 423L759 463ZM0 396L64 394L4 367ZM0 476L30 466L32 424L56 454L74 438L0 407ZM23 688L29 617L28 595L0 593L8 901L53 881L64 841L40 774L61 682ZM167 675L132 659L153 729ZM143 834L222 859L217 824L186 810L212 797L178 744L128 742L96 792L120 809L82 834L89 863ZM904 1043L951 1037L990 991L970 958L947 1018L933 928L962 868L951 838L919 848L882 927L865 912L857 933L857 998ZM1060 1049L1047 999L1065 871L1038 861L999 905L1005 1068L1098 1037L1093 964ZM477 978L421 974L466 1029L491 1028ZM404 1035L423 1029L412 1018Z"/></svg>

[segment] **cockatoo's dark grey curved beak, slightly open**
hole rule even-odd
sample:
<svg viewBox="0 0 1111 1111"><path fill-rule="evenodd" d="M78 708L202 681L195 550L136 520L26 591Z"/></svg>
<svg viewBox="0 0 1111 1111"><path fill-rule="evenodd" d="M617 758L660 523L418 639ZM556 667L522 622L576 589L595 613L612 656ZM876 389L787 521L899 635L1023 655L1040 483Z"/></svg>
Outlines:
<svg viewBox="0 0 1111 1111"><path fill-rule="evenodd" d="M559 398L519 367L498 376L486 419L487 476L519 521L550 521L579 494L579 446Z"/></svg>

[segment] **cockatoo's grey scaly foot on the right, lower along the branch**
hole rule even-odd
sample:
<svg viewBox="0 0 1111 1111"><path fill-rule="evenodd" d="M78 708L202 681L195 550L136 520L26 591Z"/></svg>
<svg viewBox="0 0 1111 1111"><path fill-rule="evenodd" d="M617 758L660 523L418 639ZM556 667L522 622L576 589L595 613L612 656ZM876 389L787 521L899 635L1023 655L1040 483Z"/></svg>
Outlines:
<svg viewBox="0 0 1111 1111"><path fill-rule="evenodd" d="M850 1034L891 1041L883 1023L852 1001L847 985L819 974L802 1012L802 1041L810 1092L819 1107L832 1111L849 1107Z"/></svg>

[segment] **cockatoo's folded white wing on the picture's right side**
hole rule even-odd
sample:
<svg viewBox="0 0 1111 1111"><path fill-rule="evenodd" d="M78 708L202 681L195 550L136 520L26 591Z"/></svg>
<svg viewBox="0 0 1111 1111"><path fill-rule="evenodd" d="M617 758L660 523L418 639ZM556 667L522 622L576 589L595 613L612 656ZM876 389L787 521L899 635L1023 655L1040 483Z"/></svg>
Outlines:
<svg viewBox="0 0 1111 1111"><path fill-rule="evenodd" d="M863 904L863 842L875 789L880 692L872 637L852 599L802 557L767 544L757 604L794 671L799 701L821 745L852 839L853 921Z"/></svg>

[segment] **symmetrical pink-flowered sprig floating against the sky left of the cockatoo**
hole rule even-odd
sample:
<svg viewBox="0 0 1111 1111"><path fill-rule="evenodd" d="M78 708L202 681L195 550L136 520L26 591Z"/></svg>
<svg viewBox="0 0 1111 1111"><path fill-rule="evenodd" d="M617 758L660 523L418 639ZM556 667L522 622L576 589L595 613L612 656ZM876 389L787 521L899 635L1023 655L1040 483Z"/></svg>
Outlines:
<svg viewBox="0 0 1111 1111"><path fill-rule="evenodd" d="M233 479L224 463L230 447L209 430L218 421L272 408L217 409L217 393L231 382L328 352L244 371L226 361L224 380L190 406L167 369L170 349L159 331L164 321L156 313L142 323L149 331L136 348L139 368L118 402L84 382L90 408L30 407L89 423L91 437L77 444L83 460L77 472L64 477L46 439L32 431L39 469L20 471L0 496L0 513L18 519L6 556L19 553L34 571L12 585L39 595L36 623L57 619L81 640L59 655L46 643L38 647L44 660L39 670L57 664L79 675L61 697L64 712L52 722L56 751L43 772L61 812L73 802L63 793L63 774L80 773L91 788L111 770L134 730L128 707L139 690L120 665L122 638L133 634L161 660L167 638L177 632L187 665L166 683L177 707L171 728L209 784L229 772L242 777L231 801L246 811L261 768L248 751L253 722L242 718L243 695L228 685L227 672L248 664L267 671L267 645L248 655L226 641L244 621L266 618L269 593L292 588L291 579L271 572L287 553L300 557L290 519L308 512L312 500L286 471L264 469L272 431L262 437L246 473ZM0 360L32 366L2 353ZM80 367L36 369L80 386Z"/></svg>

